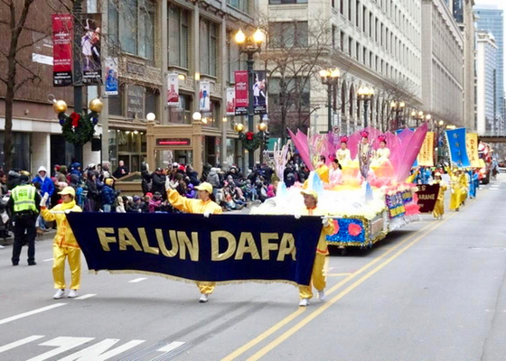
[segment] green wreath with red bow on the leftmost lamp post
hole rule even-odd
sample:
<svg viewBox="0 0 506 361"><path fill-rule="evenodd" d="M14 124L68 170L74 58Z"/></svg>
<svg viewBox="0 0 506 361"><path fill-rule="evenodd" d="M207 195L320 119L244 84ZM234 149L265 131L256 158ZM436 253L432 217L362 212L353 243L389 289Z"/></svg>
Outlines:
<svg viewBox="0 0 506 361"><path fill-rule="evenodd" d="M95 125L98 123L98 113L90 112L84 116L79 113L72 113L70 116L60 113L58 117L60 118L61 133L66 142L82 145L93 138Z"/></svg>

